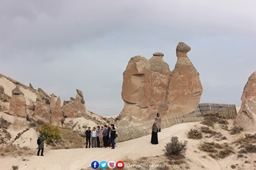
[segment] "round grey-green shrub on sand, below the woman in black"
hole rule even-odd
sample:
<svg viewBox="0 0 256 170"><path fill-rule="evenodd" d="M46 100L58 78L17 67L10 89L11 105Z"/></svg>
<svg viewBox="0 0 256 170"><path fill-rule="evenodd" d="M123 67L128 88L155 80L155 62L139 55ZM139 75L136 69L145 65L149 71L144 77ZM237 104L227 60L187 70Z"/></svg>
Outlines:
<svg viewBox="0 0 256 170"><path fill-rule="evenodd" d="M171 141L166 144L166 155L185 154L188 141L179 141L177 136L171 137Z"/></svg>

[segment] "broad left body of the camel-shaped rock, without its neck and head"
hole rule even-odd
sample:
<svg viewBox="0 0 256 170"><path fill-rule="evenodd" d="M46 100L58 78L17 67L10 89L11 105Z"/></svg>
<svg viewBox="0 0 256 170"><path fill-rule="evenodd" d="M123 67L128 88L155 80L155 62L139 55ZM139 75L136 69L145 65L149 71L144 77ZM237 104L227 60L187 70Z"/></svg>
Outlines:
<svg viewBox="0 0 256 170"><path fill-rule="evenodd" d="M163 61L163 53L154 53L151 59L132 57L124 71L121 118L154 117L149 113L165 102L170 74L168 64Z"/></svg>

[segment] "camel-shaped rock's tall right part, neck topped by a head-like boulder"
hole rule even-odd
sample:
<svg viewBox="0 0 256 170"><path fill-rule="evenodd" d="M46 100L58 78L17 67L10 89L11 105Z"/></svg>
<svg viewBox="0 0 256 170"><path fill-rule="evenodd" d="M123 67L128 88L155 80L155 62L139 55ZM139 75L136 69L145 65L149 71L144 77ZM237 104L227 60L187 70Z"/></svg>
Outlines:
<svg viewBox="0 0 256 170"><path fill-rule="evenodd" d="M177 63L171 72L168 86L168 111L171 114L186 114L195 111L202 95L199 73L187 53L191 48L184 42L177 45Z"/></svg>

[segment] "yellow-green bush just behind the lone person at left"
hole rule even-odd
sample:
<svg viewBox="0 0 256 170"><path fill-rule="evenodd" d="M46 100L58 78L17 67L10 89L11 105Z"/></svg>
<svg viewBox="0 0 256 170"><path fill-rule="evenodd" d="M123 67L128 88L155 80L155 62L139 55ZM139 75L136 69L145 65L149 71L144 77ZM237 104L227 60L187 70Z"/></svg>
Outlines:
<svg viewBox="0 0 256 170"><path fill-rule="evenodd" d="M59 141L61 139L59 127L54 125L50 125L50 124L40 125L39 133L40 135L45 136L48 140Z"/></svg>

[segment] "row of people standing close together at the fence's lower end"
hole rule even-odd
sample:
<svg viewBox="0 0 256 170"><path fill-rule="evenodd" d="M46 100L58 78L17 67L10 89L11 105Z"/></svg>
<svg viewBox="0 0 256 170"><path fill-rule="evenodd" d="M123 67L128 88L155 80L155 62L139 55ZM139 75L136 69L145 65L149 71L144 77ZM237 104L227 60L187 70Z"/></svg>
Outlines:
<svg viewBox="0 0 256 170"><path fill-rule="evenodd" d="M90 130L85 130L85 139L86 145L85 148L93 148L96 147L111 147L111 149L115 149L115 137L117 133L115 130L115 125L104 125L104 127L93 127Z"/></svg>

